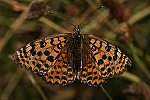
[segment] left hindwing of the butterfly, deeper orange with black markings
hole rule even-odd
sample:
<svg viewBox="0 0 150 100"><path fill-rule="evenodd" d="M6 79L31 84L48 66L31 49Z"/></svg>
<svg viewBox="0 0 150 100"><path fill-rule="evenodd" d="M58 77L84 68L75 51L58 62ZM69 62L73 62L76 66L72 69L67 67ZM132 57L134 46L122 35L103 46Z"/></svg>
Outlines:
<svg viewBox="0 0 150 100"><path fill-rule="evenodd" d="M62 49L61 53L57 56L54 67L49 69L48 74L42 76L47 83L63 86L70 84L75 80L70 47L71 46L68 45Z"/></svg>

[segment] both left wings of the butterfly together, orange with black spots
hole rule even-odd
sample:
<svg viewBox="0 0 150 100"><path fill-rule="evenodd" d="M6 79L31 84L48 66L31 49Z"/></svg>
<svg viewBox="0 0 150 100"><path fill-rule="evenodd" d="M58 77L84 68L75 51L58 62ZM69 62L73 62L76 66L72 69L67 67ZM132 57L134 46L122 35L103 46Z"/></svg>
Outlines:
<svg viewBox="0 0 150 100"><path fill-rule="evenodd" d="M48 83L66 85L74 80L67 44L70 36L59 34L35 40L16 51L12 58Z"/></svg>

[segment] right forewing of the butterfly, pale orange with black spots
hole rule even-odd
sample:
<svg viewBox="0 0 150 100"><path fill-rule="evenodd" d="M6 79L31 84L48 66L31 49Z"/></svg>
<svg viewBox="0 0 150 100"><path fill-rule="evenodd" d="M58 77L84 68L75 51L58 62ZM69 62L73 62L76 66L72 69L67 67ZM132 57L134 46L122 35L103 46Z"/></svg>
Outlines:
<svg viewBox="0 0 150 100"><path fill-rule="evenodd" d="M104 79L118 76L131 65L130 59L118 47L93 35L85 35L93 62Z"/></svg>

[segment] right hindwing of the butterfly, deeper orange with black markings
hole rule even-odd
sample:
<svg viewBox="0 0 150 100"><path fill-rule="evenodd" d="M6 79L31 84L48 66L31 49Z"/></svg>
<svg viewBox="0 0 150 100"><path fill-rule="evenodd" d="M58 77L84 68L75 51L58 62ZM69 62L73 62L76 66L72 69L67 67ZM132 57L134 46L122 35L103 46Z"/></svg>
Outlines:
<svg viewBox="0 0 150 100"><path fill-rule="evenodd" d="M83 45L82 66L80 72L80 80L82 83L88 84L89 86L98 86L107 82L107 79L99 75L96 66L97 65L88 46Z"/></svg>

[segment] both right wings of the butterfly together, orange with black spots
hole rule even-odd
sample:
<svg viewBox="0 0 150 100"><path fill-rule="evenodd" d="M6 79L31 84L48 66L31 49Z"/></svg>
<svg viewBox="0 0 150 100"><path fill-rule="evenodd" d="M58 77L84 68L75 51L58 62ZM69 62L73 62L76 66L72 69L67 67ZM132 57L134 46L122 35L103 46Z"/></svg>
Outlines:
<svg viewBox="0 0 150 100"><path fill-rule="evenodd" d="M85 34L84 37L81 82L97 86L131 66L130 59L119 48L93 35Z"/></svg>

